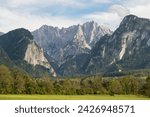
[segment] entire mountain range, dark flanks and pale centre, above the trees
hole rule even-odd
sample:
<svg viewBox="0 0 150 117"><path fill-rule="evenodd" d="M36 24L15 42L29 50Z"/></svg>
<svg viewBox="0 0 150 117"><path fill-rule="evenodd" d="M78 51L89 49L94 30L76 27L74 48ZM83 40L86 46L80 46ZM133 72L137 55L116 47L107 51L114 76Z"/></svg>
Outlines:
<svg viewBox="0 0 150 117"><path fill-rule="evenodd" d="M0 34L1 35L1 34ZM58 28L43 25L0 36L0 64L34 76L95 75L150 68L150 20L126 16L112 32L96 22Z"/></svg>

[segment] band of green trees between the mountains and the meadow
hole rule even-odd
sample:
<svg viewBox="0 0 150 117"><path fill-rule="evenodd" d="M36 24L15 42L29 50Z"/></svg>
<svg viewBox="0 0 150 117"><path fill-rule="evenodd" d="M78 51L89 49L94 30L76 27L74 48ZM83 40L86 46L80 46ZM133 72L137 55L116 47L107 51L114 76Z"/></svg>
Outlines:
<svg viewBox="0 0 150 117"><path fill-rule="evenodd" d="M32 78L19 68L0 65L0 94L134 94L150 97L150 77L147 79L126 76L102 78L90 76L73 79Z"/></svg>

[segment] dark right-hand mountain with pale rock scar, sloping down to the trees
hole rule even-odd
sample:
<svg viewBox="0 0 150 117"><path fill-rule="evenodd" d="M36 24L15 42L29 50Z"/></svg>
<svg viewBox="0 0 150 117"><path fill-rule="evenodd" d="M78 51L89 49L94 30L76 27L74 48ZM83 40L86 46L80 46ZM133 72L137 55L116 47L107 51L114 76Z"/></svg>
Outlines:
<svg viewBox="0 0 150 117"><path fill-rule="evenodd" d="M150 68L150 20L126 16L112 35L103 36L88 57L82 58L82 64L77 62L78 56L61 65L59 71L62 75Z"/></svg>

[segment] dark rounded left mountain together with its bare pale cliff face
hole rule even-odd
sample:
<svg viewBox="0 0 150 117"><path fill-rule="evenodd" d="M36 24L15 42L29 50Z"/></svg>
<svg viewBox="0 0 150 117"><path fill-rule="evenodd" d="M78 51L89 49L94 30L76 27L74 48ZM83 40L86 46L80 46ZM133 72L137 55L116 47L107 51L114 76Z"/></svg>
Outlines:
<svg viewBox="0 0 150 117"><path fill-rule="evenodd" d="M2 35L0 37L0 46L8 54L9 58L20 67L25 68L26 63L31 66L39 65L49 69L50 73L56 76L54 69L45 58L43 50L34 42L33 36L28 30L16 29ZM26 71L28 70L26 68Z"/></svg>

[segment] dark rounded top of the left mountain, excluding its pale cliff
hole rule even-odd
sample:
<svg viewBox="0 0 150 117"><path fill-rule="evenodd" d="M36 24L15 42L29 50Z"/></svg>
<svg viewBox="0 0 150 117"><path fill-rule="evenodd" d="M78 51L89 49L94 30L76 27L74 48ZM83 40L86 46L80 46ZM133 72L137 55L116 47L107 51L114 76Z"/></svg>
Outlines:
<svg viewBox="0 0 150 117"><path fill-rule="evenodd" d="M26 46L30 41L33 41L32 34L21 28L2 35L0 45L12 60L19 60L23 59Z"/></svg>

